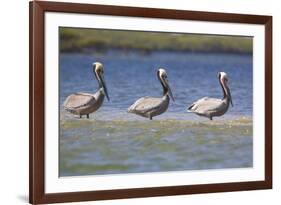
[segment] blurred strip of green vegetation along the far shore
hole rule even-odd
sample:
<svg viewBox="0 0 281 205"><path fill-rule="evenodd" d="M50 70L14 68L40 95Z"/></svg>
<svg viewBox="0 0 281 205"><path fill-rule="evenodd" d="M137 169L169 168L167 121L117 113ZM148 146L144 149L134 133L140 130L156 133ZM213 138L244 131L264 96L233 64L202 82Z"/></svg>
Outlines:
<svg viewBox="0 0 281 205"><path fill-rule="evenodd" d="M111 49L251 54L251 37L172 34L142 31L60 28L61 52L106 52Z"/></svg>

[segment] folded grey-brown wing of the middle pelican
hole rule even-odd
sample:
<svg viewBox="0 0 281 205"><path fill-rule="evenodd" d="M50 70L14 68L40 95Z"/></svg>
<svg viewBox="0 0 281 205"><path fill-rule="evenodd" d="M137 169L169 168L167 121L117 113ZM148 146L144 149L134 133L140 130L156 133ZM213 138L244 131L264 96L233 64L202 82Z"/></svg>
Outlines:
<svg viewBox="0 0 281 205"><path fill-rule="evenodd" d="M128 111L146 113L159 107L161 105L161 102L162 98L142 97L138 99L133 105L131 105Z"/></svg>

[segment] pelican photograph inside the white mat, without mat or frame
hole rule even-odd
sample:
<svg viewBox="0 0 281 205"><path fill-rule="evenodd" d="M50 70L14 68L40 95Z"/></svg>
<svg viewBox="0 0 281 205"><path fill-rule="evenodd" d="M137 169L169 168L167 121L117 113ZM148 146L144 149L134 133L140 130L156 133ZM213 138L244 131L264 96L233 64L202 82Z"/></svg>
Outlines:
<svg viewBox="0 0 281 205"><path fill-rule="evenodd" d="M59 176L253 167L253 38L59 28Z"/></svg>

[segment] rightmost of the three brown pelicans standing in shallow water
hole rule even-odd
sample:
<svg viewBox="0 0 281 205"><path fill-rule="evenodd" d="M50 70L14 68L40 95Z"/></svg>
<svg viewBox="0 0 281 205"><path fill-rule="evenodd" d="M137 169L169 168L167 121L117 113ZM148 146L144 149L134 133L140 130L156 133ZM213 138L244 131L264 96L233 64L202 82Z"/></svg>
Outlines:
<svg viewBox="0 0 281 205"><path fill-rule="evenodd" d="M194 102L187 108L188 112L208 117L210 120L215 116L221 116L228 110L229 103L232 104L230 90L227 86L228 78L225 72L219 72L218 78L223 91L223 99L204 97Z"/></svg>

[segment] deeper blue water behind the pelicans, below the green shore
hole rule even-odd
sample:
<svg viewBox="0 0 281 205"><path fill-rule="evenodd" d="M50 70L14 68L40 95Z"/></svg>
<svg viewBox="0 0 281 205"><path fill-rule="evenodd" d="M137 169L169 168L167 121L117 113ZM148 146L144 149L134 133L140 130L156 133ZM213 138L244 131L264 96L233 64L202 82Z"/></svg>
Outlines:
<svg viewBox="0 0 281 205"><path fill-rule="evenodd" d="M111 101L102 111L126 112L127 108L143 96L161 96L162 87L156 77L157 68L165 68L175 97L167 114L187 116L186 107L204 96L222 98L217 72L229 77L234 107L227 115L252 115L252 57L250 55L152 53L151 55L61 55L60 102L77 91L95 92L97 81L92 63L104 64L105 80ZM127 116L129 117L129 115ZM181 116L184 117L184 116Z"/></svg>

